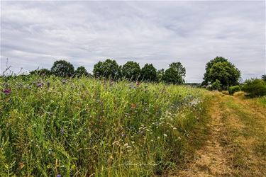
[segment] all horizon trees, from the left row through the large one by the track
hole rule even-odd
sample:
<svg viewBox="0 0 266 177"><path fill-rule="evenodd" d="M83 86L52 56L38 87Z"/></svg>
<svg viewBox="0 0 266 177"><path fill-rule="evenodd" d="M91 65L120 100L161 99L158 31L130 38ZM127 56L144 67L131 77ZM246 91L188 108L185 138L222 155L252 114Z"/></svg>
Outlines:
<svg viewBox="0 0 266 177"><path fill-rule="evenodd" d="M228 90L230 86L240 84L240 70L224 57L216 57L206 63L206 72L201 86L215 90ZM37 69L31 74L61 77L94 76L106 79L128 79L131 81L163 81L168 84L184 84L186 69L181 62L173 62L168 69L157 70L153 64L145 64L143 68L137 62L126 62L118 65L116 60L106 59L94 65L93 74L89 74L84 67L74 70L73 65L65 60L56 61L50 70ZM266 77L266 76L265 76Z"/></svg>

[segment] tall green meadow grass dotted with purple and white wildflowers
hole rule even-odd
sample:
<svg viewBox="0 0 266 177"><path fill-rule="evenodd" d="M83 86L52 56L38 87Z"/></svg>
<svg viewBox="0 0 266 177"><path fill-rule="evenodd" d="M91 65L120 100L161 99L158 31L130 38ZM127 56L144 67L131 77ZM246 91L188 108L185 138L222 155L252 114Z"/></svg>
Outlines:
<svg viewBox="0 0 266 177"><path fill-rule="evenodd" d="M205 91L186 86L34 76L0 86L11 88L0 176L161 175L193 156L206 123Z"/></svg>

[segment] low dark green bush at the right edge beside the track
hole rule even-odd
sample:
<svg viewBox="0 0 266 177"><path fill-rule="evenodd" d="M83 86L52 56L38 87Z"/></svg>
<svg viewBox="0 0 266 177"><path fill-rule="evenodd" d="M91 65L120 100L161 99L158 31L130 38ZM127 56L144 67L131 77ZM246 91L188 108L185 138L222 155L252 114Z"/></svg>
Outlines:
<svg viewBox="0 0 266 177"><path fill-rule="evenodd" d="M262 79L249 79L245 81L242 91L248 93L248 96L250 97L265 96L266 83L265 81L262 81Z"/></svg>

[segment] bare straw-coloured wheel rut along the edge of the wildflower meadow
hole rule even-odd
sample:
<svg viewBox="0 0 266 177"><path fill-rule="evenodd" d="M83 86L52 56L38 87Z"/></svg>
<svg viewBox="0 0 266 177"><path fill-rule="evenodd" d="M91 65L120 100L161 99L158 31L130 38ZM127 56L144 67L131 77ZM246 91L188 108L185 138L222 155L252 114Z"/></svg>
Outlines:
<svg viewBox="0 0 266 177"><path fill-rule="evenodd" d="M218 100L213 101L209 114L211 115L211 122L208 125L211 129L209 140L196 152L196 157L189 164L189 168L180 172L179 176L228 176L231 173L230 166L226 165L225 152L220 143L223 136L223 123Z"/></svg>

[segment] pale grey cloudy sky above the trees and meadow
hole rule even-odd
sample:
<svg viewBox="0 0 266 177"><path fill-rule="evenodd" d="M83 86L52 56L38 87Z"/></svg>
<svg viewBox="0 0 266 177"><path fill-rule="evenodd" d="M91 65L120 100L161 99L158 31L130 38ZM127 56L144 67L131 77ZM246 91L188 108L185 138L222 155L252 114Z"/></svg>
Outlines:
<svg viewBox="0 0 266 177"><path fill-rule="evenodd" d="M230 59L242 78L265 73L265 1L1 1L1 72L50 68L56 59L92 72L106 58L182 62L186 81Z"/></svg>

